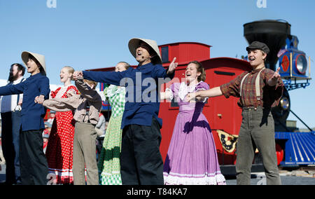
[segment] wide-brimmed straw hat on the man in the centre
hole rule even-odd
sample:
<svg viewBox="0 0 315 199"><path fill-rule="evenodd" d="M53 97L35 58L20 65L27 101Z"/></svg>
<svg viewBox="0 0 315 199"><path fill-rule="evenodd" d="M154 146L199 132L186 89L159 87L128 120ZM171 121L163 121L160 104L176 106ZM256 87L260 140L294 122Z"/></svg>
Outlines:
<svg viewBox="0 0 315 199"><path fill-rule="evenodd" d="M132 53L134 58L137 57L136 51L137 51L137 48L139 47L141 42L148 44L148 46L150 46L152 48L153 52L155 52L156 55L158 55L160 63L162 63L162 57L160 55L158 43L156 43L156 41L151 40L151 39L141 39L141 38L130 39L130 41L128 43L128 47L129 47L130 53Z"/></svg>

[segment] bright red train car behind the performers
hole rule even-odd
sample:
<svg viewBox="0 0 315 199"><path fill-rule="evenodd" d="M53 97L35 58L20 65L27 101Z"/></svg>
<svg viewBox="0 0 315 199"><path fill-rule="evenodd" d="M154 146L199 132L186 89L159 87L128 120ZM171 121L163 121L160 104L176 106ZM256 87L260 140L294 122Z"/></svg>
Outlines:
<svg viewBox="0 0 315 199"><path fill-rule="evenodd" d="M162 55L163 67L167 69L174 57L176 57L176 62L179 62L175 78L169 83L162 85L162 92L165 91L165 88L169 88L175 81L179 81L185 77L186 67L193 60L201 62L204 66L207 74L206 83L209 84L210 88L228 83L243 71L251 69L250 64L244 60L230 57L210 58L211 46L203 43L169 43L159 46L159 48ZM90 70L112 71L113 67ZM160 151L164 160L178 113L179 107L176 106L176 103L160 103L159 117L163 120ZM235 164L235 141L241 126L241 109L237 106L237 98L230 97L229 99L225 99L224 96L221 96L208 99L207 104L204 106L203 114L209 121L216 142L219 163L221 165Z"/></svg>

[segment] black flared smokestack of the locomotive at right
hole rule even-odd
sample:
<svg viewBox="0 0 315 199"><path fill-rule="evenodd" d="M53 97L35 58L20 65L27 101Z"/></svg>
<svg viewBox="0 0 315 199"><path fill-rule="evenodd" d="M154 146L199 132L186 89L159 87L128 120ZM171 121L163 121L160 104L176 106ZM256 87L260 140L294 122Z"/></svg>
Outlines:
<svg viewBox="0 0 315 199"><path fill-rule="evenodd" d="M286 46L286 38L290 35L291 25L279 20L261 20L244 24L244 36L248 43L260 41L270 49L266 67L275 71L278 60L277 53Z"/></svg>

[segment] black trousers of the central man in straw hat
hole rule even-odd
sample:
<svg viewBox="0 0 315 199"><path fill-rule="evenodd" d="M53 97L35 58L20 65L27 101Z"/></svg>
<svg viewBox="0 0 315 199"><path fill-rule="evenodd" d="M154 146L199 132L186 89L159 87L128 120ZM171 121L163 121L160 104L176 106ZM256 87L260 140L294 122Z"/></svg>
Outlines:
<svg viewBox="0 0 315 199"><path fill-rule="evenodd" d="M123 129L120 172L124 185L163 185L160 125L127 125Z"/></svg>

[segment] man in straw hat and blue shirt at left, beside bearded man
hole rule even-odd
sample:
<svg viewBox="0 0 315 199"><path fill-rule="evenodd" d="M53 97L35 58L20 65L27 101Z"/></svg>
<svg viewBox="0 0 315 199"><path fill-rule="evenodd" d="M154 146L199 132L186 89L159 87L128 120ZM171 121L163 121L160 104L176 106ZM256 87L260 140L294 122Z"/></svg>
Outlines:
<svg viewBox="0 0 315 199"><path fill-rule="evenodd" d="M45 76L45 57L23 52L22 60L31 74L22 83L0 87L0 95L24 94L22 101L22 130L20 132L20 169L22 184L47 184L48 164L43 153L42 132L45 108L36 102L48 99L49 79Z"/></svg>

